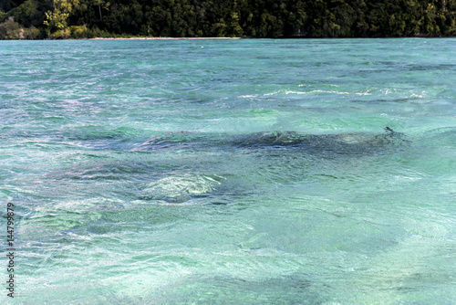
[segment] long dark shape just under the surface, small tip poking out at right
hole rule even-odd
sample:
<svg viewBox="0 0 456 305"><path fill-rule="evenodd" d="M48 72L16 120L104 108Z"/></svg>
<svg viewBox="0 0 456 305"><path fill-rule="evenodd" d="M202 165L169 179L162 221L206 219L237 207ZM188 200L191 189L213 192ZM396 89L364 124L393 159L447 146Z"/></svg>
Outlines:
<svg viewBox="0 0 456 305"><path fill-rule="evenodd" d="M133 151L158 152L166 150L227 150L236 149L294 149L295 152L321 153L323 155L359 155L382 153L390 149L409 146L401 132L389 127L383 133L332 133L305 134L295 131L268 131L250 134L211 134L171 132L152 137L136 145Z"/></svg>

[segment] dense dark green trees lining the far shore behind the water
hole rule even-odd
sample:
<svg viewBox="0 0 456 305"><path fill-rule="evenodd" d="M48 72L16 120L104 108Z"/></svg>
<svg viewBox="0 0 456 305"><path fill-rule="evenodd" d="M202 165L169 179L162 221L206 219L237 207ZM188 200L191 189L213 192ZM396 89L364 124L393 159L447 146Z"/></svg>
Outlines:
<svg viewBox="0 0 456 305"><path fill-rule="evenodd" d="M439 37L456 0L0 0L1 22L4 38L11 22L56 38Z"/></svg>

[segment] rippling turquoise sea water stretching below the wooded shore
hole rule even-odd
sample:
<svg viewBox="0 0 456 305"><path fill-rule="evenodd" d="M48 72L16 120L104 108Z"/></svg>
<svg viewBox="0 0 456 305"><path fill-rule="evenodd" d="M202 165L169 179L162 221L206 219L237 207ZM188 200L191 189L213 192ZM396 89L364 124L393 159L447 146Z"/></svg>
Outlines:
<svg viewBox="0 0 456 305"><path fill-rule="evenodd" d="M453 304L455 49L0 42L2 302Z"/></svg>

